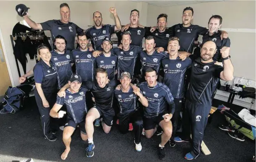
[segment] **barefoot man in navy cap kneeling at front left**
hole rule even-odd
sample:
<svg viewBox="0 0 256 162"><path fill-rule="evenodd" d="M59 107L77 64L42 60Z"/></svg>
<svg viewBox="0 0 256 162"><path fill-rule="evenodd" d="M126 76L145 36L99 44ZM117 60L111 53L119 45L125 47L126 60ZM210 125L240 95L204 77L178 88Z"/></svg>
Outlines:
<svg viewBox="0 0 256 162"><path fill-rule="evenodd" d="M68 81L70 88L65 90L64 97L57 96L57 101L50 111L50 116L53 118L62 118L66 113L59 111L65 104L67 107L67 123L63 130L63 142L65 144L65 151L61 154L61 159L65 160L70 152L71 135L79 125L82 140L87 140L85 131L85 117L87 113L85 94L88 91L86 88L81 87L81 77L79 75L72 75ZM59 111L59 112L58 112Z"/></svg>

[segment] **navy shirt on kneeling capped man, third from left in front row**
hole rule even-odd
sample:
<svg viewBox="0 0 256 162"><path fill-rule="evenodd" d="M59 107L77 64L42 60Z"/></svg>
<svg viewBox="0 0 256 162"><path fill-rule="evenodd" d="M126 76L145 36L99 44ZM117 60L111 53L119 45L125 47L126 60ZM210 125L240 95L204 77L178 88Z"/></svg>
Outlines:
<svg viewBox="0 0 256 162"><path fill-rule="evenodd" d="M128 92L122 90L114 90L115 98L118 100L119 116L128 114L136 110L137 95L133 93L133 88L130 87Z"/></svg>

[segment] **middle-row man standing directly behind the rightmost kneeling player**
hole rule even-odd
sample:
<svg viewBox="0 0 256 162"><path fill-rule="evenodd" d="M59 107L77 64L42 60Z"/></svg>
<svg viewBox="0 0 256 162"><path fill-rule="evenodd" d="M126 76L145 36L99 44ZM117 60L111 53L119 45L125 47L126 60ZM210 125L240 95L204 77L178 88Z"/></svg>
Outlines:
<svg viewBox="0 0 256 162"><path fill-rule="evenodd" d="M152 67L159 74L161 60L166 57L164 52L158 52L154 49L156 46L154 37L148 36L145 39L146 51L141 51L141 82L144 81L145 71L148 67Z"/></svg>

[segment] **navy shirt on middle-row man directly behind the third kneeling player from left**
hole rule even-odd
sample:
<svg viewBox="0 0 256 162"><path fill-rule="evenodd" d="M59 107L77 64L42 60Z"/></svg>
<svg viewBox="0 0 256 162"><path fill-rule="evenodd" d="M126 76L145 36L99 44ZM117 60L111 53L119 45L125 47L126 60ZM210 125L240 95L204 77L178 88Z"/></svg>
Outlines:
<svg viewBox="0 0 256 162"><path fill-rule="evenodd" d="M139 46L130 46L128 51L124 51L120 48L112 49L112 54L118 56L118 80L122 72L129 72L131 77L133 77L133 72L135 68L135 63L138 57L138 54L143 51L142 47Z"/></svg>

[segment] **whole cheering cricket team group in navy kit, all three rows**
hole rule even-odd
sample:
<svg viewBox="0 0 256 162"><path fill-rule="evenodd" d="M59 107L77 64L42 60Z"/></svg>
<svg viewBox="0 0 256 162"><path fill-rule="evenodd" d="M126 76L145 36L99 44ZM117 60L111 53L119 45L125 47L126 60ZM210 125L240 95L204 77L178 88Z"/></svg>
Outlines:
<svg viewBox="0 0 256 162"><path fill-rule="evenodd" d="M23 10L25 7L20 5ZM121 133L133 131L131 143L138 152L143 146L142 134L151 138L157 131L162 133L159 159L166 157L165 145L174 147L175 142L191 142L185 159L199 156L214 91L220 79L233 78L230 39L227 32L219 30L220 15L212 15L204 28L191 24L194 11L187 7L180 24L167 28L167 14L162 13L156 18L157 26L145 27L138 23L140 13L134 9L130 24L121 26L117 10L111 7L115 26L104 24L102 14L96 11L94 26L84 30L69 22L67 3L60 5L60 20L43 23L35 23L28 12L19 11L31 28L50 30L54 39L54 50L40 45L39 62L19 80L22 83L34 75L45 139L55 141L59 120L66 118L61 159L68 157L75 129L80 129L82 140L88 140L86 156L93 157L97 147L94 126L102 125L108 134L113 119ZM117 48L111 41L113 33L120 41ZM203 41L195 49L199 35ZM180 112L182 134L177 136Z"/></svg>

